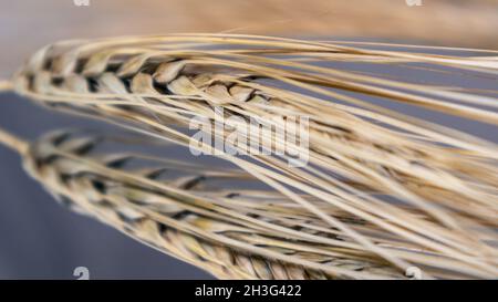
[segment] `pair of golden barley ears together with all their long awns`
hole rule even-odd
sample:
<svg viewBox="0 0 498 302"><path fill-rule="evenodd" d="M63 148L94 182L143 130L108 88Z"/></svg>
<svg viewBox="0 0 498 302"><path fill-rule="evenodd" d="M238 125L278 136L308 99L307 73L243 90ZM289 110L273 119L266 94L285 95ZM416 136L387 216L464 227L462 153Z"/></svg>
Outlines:
<svg viewBox="0 0 498 302"><path fill-rule="evenodd" d="M0 140L62 204L217 278L492 279L497 74L485 50L63 41L2 88L126 134Z"/></svg>

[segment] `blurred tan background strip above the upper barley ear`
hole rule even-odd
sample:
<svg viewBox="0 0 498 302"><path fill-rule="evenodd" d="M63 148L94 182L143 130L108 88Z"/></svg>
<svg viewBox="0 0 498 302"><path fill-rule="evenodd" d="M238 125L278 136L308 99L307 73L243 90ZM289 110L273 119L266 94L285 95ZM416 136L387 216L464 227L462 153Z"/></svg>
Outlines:
<svg viewBox="0 0 498 302"><path fill-rule="evenodd" d="M1 75L60 39L236 32L498 45L498 0L0 0Z"/></svg>

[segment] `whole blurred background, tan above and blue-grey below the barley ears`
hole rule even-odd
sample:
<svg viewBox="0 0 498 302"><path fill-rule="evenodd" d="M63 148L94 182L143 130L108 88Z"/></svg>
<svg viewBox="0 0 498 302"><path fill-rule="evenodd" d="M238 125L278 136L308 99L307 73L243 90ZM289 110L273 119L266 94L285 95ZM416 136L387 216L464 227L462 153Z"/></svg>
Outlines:
<svg viewBox="0 0 498 302"><path fill-rule="evenodd" d="M498 0L0 0L0 79L48 43L108 35L226 32L498 48ZM23 137L87 125L0 94L0 126ZM471 132L494 139L487 128ZM0 279L75 279L76 267L89 268L91 279L210 278L60 207L3 147L0 184Z"/></svg>

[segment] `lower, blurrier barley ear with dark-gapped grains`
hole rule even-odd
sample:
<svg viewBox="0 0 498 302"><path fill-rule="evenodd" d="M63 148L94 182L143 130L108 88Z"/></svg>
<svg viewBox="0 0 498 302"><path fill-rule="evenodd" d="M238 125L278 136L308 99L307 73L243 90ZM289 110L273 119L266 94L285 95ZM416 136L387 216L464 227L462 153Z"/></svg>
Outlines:
<svg viewBox="0 0 498 302"><path fill-rule="evenodd" d="M300 217L299 209L271 191L203 184L250 178L241 171L210 167L196 174L198 166L174 160L93 152L104 142L100 135L58 131L19 150L29 174L64 206L218 278L403 278L360 251L313 243L313 238L333 242L340 235L309 228L313 218ZM139 159L152 163L126 168ZM166 181L162 175L167 173L173 178ZM268 217L267 207L272 209ZM245 221L240 214L258 218ZM300 225L301 231L294 231Z"/></svg>

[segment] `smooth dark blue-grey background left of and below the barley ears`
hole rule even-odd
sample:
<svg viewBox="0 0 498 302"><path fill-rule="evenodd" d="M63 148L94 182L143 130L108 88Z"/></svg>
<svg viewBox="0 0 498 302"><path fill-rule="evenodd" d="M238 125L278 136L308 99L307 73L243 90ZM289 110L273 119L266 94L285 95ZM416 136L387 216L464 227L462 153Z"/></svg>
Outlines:
<svg viewBox="0 0 498 302"><path fill-rule="evenodd" d="M14 94L0 94L0 124L34 139L60 127L94 128L89 122L50 112ZM197 268L148 248L121 232L60 206L0 147L0 279L212 279Z"/></svg>

